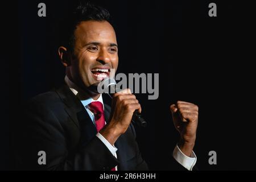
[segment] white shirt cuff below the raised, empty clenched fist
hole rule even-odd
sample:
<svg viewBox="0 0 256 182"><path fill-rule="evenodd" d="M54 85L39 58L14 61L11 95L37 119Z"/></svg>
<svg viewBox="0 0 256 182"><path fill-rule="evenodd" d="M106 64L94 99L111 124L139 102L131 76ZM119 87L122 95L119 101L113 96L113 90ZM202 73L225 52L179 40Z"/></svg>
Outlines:
<svg viewBox="0 0 256 182"><path fill-rule="evenodd" d="M174 159L177 160L183 167L187 168L189 171L192 171L193 167L196 164L196 154L192 151L191 157L181 152L180 148L176 145L173 152Z"/></svg>

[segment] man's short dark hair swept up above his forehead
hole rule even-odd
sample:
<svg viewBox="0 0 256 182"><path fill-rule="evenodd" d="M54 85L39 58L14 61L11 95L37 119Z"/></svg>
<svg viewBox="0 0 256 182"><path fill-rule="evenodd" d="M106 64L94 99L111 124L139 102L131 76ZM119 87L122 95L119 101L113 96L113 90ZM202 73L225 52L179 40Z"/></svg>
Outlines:
<svg viewBox="0 0 256 182"><path fill-rule="evenodd" d="M61 21L59 30L59 46L67 47L71 52L73 52L73 46L75 43L74 32L76 26L87 20L95 21L108 21L110 22L109 11L101 6L93 5L90 2L81 3L75 7L75 10L68 14L67 18Z"/></svg>

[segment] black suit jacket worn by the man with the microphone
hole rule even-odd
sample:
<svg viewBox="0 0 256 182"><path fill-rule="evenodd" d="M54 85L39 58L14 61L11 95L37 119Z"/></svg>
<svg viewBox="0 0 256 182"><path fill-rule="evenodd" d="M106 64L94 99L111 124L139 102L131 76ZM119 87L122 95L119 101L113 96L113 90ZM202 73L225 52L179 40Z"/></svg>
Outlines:
<svg viewBox="0 0 256 182"><path fill-rule="evenodd" d="M104 107L108 122L110 107ZM115 142L116 159L96 137L96 127L67 85L32 98L23 109L23 119L16 122L14 132L18 169L110 170L116 165L118 170L148 169L134 126L131 124ZM46 152L46 164L39 165L39 151ZM184 169L178 163L176 166Z"/></svg>

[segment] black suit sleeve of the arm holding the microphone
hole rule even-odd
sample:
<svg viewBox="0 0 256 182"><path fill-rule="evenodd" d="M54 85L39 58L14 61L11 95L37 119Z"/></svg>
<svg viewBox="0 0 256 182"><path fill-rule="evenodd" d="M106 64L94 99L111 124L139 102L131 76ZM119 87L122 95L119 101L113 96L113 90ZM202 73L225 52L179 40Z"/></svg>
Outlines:
<svg viewBox="0 0 256 182"><path fill-rule="evenodd" d="M60 122L45 106L30 104L23 111L23 119L16 122L16 167L23 170L110 170L118 165L100 139L90 142L70 155L66 133ZM43 155L46 154L46 164Z"/></svg>

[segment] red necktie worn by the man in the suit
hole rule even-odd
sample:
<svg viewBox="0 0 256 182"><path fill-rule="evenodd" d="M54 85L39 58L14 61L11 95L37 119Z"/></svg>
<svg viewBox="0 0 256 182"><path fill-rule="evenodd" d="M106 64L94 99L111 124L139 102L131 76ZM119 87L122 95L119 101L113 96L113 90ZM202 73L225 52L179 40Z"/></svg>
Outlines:
<svg viewBox="0 0 256 182"><path fill-rule="evenodd" d="M103 105L99 101L91 102L89 104L89 109L94 114L96 129L97 132L99 132L105 126ZM115 168L111 169L111 171L115 171Z"/></svg>

